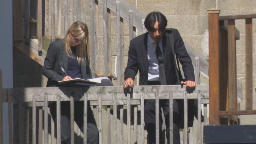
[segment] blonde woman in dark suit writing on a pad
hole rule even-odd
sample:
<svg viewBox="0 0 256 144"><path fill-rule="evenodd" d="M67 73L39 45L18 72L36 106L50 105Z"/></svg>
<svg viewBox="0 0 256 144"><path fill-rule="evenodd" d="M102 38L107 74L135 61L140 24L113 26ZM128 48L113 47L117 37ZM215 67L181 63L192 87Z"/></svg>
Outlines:
<svg viewBox="0 0 256 144"><path fill-rule="evenodd" d="M62 40L50 44L43 74L48 78L47 87L59 87L58 81L72 78L92 78L89 67L89 37L86 24L73 23ZM75 122L83 131L83 102L75 102ZM56 123L56 102L50 104L50 112ZM61 143L70 143L70 102L61 102ZM56 126L56 124L55 124ZM93 112L88 103L87 111L87 143L98 144L98 129Z"/></svg>

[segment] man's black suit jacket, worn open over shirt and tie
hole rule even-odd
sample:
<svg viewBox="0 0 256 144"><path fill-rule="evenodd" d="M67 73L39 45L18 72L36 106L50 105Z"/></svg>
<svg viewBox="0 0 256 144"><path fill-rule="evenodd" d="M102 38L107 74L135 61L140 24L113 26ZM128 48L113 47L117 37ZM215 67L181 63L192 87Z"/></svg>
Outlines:
<svg viewBox="0 0 256 144"><path fill-rule="evenodd" d="M167 85L180 84L177 80L177 73L175 72L176 61L174 61L169 33L173 33L174 51L181 62L185 80L195 81L191 58L186 51L181 35L177 29L172 29L172 31L166 30L162 37L164 71ZM139 70L139 85L148 84L147 37L148 32L141 34L130 41L128 63L124 72L125 80L129 77L134 79Z"/></svg>

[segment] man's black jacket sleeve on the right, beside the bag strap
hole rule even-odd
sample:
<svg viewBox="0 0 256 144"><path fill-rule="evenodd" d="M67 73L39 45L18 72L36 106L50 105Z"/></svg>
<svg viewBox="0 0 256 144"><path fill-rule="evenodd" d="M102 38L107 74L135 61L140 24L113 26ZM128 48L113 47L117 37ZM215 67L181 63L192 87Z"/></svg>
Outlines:
<svg viewBox="0 0 256 144"><path fill-rule="evenodd" d="M184 42L181 38L181 35L177 29L173 29L174 34L174 50L176 56L179 58L182 70L184 72L185 80L195 81L194 67L191 62L191 58L187 53L187 50L184 46Z"/></svg>

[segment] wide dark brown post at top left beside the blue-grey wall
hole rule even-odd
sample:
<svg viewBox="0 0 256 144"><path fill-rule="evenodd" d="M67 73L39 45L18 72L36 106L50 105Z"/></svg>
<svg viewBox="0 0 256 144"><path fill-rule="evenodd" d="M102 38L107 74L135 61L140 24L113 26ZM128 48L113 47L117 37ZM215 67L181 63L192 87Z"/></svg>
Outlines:
<svg viewBox="0 0 256 144"><path fill-rule="evenodd" d="M13 1L13 41L22 38L22 1Z"/></svg>

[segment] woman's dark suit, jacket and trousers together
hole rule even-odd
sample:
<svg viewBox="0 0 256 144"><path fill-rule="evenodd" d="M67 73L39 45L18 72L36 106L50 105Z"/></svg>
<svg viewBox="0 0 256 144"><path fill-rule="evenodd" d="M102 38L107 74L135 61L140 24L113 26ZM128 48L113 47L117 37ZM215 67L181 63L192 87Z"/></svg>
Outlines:
<svg viewBox="0 0 256 144"><path fill-rule="evenodd" d="M65 77L65 73L61 67L67 72L68 70L68 55L65 51L64 40L53 41L47 51L42 69L43 74L48 78L47 87L59 87L58 81ZM89 65L81 64L81 77L83 79L92 78ZM56 123L56 102L50 104L50 112L53 120ZM75 102L75 122L83 131L83 102ZM61 143L70 143L70 102L61 102ZM56 125L55 125L56 129ZM56 131L55 131L56 132ZM55 133L56 134L56 133ZM93 112L88 102L87 108L87 142L88 144L98 143L98 129Z"/></svg>

